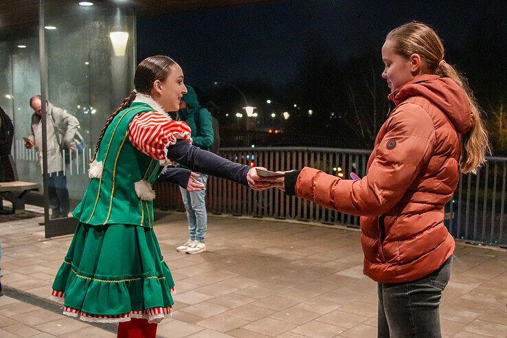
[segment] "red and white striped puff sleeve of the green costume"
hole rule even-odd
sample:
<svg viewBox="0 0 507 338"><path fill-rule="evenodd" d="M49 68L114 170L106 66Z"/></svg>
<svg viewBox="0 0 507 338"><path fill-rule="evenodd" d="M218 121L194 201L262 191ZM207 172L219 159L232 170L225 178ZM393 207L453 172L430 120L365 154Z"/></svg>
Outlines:
<svg viewBox="0 0 507 338"><path fill-rule="evenodd" d="M128 125L128 139L140 152L153 159L166 160L166 147L185 139L192 143L190 127L183 121L172 121L156 111L136 115Z"/></svg>

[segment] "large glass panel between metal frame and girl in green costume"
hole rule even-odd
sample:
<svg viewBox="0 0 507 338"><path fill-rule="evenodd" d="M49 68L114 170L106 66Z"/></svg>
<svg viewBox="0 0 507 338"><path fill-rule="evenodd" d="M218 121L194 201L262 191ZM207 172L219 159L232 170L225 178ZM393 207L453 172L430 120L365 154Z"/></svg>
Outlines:
<svg viewBox="0 0 507 338"><path fill-rule="evenodd" d="M110 3L84 7L77 1L47 0L44 17L47 128L56 129L54 144L64 149L48 150L49 201L55 218L67 216L67 191L70 210L82 198L95 142L111 112L133 88L135 15ZM73 136L75 124L79 127ZM73 140L77 150L68 149Z"/></svg>

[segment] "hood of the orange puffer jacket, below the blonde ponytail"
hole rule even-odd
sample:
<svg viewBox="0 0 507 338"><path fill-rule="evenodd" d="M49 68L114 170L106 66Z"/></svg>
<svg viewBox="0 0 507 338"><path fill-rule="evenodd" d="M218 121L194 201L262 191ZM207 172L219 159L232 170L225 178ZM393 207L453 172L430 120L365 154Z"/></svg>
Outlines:
<svg viewBox="0 0 507 338"><path fill-rule="evenodd" d="M395 89L387 98L396 106L412 96L424 96L440 108L458 133L468 133L473 127L470 101L465 91L451 78L423 75Z"/></svg>

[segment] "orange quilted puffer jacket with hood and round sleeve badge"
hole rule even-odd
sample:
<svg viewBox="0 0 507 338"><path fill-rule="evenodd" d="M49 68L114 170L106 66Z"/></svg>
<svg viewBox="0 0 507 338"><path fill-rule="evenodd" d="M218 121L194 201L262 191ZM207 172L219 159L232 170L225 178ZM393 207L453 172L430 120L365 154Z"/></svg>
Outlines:
<svg viewBox="0 0 507 338"><path fill-rule="evenodd" d="M365 275L409 282L438 269L454 251L444 205L460 177L460 134L473 126L466 93L449 78L425 75L389 95L396 108L376 137L361 180L313 168L297 196L361 217Z"/></svg>

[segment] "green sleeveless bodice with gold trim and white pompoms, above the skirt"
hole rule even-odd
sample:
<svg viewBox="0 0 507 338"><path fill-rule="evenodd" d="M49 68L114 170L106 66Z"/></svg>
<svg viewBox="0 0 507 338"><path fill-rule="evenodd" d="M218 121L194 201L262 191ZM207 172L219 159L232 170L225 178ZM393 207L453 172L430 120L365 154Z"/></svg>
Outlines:
<svg viewBox="0 0 507 338"><path fill-rule="evenodd" d="M153 227L155 193L150 183L157 179L163 167L128 140L128 124L135 115L153 110L146 103L133 102L107 127L95 159L99 173L91 179L72 213L80 222Z"/></svg>

